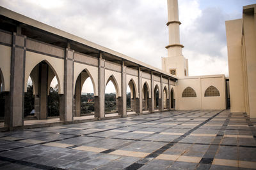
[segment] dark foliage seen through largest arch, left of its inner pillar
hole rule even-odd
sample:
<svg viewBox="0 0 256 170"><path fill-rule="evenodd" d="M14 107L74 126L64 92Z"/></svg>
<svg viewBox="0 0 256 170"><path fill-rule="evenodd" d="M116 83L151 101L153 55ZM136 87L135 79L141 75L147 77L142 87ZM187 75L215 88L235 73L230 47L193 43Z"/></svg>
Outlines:
<svg viewBox="0 0 256 170"><path fill-rule="evenodd" d="M24 117L30 115L35 109L35 97L33 95L33 85L27 86L27 92L24 94Z"/></svg>

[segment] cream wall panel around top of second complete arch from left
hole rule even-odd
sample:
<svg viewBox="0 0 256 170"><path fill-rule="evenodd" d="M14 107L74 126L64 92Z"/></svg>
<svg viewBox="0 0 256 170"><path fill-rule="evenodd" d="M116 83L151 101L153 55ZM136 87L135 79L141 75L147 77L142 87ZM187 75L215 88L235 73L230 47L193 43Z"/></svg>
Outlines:
<svg viewBox="0 0 256 170"><path fill-rule="evenodd" d="M94 96L98 96L98 67L88 66L86 64L81 64L77 62L74 63L74 94L76 88L76 80L83 70L86 71L86 73L88 74L88 76L90 76L92 80Z"/></svg>

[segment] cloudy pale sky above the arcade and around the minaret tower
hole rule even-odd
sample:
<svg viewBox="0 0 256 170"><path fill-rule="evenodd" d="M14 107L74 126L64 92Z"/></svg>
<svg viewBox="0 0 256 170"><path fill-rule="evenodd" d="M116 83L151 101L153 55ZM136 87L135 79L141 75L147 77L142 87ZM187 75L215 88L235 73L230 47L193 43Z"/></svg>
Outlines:
<svg viewBox="0 0 256 170"><path fill-rule="evenodd" d="M179 0L180 42L190 76L228 76L225 20L241 18L242 6L253 3ZM0 5L158 68L167 57L166 0L1 0Z"/></svg>

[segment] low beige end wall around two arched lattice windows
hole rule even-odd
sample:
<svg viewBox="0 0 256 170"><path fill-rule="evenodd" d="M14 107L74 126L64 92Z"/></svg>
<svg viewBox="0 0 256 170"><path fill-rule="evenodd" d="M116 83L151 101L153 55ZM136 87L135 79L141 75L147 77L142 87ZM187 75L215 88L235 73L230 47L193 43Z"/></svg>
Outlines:
<svg viewBox="0 0 256 170"><path fill-rule="evenodd" d="M204 97L205 90L210 86L219 90L220 96ZM196 92L196 97L182 97L182 92L191 87ZM177 82L176 109L177 110L225 110L226 108L226 91L225 76L191 76L181 78Z"/></svg>

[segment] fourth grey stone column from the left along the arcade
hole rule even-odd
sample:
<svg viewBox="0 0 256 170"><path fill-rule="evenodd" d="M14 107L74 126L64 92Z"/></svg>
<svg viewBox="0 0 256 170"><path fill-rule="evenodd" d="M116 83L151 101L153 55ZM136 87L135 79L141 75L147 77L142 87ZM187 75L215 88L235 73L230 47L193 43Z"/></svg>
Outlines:
<svg viewBox="0 0 256 170"><path fill-rule="evenodd" d="M126 113L126 66L122 62L122 75L121 75L121 97L118 97L118 115L127 117Z"/></svg>

